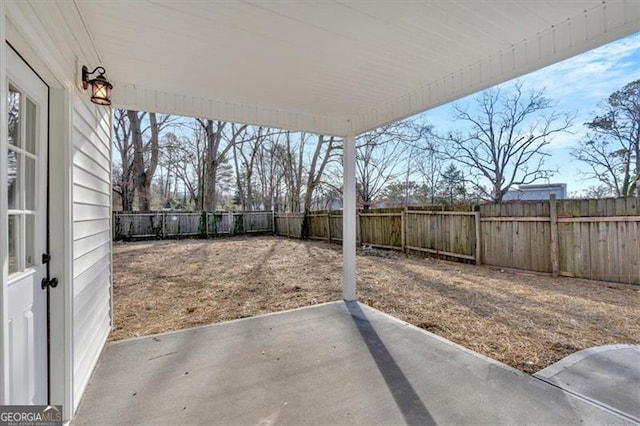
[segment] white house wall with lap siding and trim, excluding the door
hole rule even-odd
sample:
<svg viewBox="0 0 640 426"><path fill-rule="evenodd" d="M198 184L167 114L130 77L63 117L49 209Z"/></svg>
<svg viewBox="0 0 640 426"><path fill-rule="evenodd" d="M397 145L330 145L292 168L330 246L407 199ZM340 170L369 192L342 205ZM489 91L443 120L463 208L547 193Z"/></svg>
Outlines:
<svg viewBox="0 0 640 426"><path fill-rule="evenodd" d="M50 252L60 285L50 293L50 383L52 402L69 419L111 329L111 110L81 88L82 65L100 60L73 2L7 1L0 12L6 40L55 94Z"/></svg>

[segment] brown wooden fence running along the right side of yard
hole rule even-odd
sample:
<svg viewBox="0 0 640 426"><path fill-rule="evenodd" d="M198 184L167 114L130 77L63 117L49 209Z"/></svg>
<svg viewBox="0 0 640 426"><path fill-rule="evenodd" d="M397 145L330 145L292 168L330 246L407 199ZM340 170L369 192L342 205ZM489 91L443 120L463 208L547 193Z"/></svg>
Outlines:
<svg viewBox="0 0 640 426"><path fill-rule="evenodd" d="M299 238L302 214L275 215ZM342 214L310 215L312 239L342 240ZM640 199L486 204L473 212L360 211L358 243L570 277L640 284Z"/></svg>

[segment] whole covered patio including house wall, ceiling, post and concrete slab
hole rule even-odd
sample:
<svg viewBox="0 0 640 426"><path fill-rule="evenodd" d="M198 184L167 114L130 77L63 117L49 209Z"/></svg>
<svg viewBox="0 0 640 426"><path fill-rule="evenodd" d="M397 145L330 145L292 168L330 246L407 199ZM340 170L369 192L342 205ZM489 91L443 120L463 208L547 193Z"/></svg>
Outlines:
<svg viewBox="0 0 640 426"><path fill-rule="evenodd" d="M359 304L355 196L359 134L640 31L637 0L0 1L0 19L2 113L10 51L48 90L41 234L60 282L32 286L48 352L24 369L42 396L19 399L0 250L4 403L78 424L639 421ZM107 344L113 123L83 66L104 67L114 107L342 138L344 301Z"/></svg>

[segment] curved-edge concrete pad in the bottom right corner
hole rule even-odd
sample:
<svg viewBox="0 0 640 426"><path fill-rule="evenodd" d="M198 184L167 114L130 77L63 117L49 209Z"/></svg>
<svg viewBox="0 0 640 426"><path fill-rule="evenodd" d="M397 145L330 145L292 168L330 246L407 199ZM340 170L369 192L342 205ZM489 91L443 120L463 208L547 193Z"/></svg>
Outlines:
<svg viewBox="0 0 640 426"><path fill-rule="evenodd" d="M535 374L640 423L640 345L607 345L569 355Z"/></svg>

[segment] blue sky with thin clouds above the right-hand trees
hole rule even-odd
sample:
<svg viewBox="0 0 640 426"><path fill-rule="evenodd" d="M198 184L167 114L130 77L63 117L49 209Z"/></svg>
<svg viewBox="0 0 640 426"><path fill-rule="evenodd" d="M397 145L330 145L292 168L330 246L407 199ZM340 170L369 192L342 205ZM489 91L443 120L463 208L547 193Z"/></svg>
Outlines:
<svg viewBox="0 0 640 426"><path fill-rule="evenodd" d="M551 157L546 164L558 170L551 178L552 183L566 183L569 193L597 184L593 180L583 180L578 171L584 166L576 162L569 152L584 135L583 123L594 116L598 103L637 79L640 79L640 33L518 78L525 90L546 88L546 96L555 102L556 110L576 114L573 134L556 136L547 147ZM506 86L510 84L505 83ZM472 106L472 100L473 96L470 96L456 103ZM436 131L444 132L452 127L449 124L452 115L452 104L447 104L424 113L422 117L433 124Z"/></svg>

